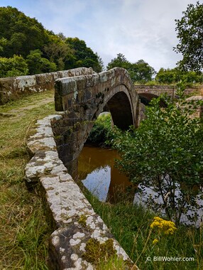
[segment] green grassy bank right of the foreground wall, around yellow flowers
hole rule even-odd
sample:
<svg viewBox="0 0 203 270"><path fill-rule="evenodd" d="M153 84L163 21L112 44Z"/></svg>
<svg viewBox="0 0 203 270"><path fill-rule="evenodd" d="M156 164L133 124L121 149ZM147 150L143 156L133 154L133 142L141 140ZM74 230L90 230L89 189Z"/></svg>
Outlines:
<svg viewBox="0 0 203 270"><path fill-rule="evenodd" d="M166 235L151 229L155 214L141 206L133 205L124 196L115 205L99 202L84 190L95 212L140 269L203 269L202 227L180 226L174 234ZM156 244L153 240L158 239ZM151 261L148 261L150 257ZM153 261L154 257L194 258L194 261Z"/></svg>

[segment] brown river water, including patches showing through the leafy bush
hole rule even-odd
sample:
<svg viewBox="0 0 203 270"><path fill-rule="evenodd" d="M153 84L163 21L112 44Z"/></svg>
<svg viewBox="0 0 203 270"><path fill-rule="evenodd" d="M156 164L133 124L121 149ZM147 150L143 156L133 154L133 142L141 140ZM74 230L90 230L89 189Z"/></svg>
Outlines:
<svg viewBox="0 0 203 270"><path fill-rule="evenodd" d="M115 158L119 158L119 153L114 149L85 145L78 159L77 178L102 202L114 203L115 201L122 200L122 195L126 193L127 189L131 190L132 200L138 204L146 205L148 196L154 198L154 201L158 204L163 203L161 198L155 198L156 193L152 189L142 187L141 185L139 187L143 188L145 195L139 195L138 193L135 195L133 189L130 188L131 183L128 181L128 178L119 173L119 170L115 168ZM179 190L177 188L177 195L178 193ZM200 210L194 209L198 216L195 225L199 227L203 216L203 201L199 200L198 196L197 203L202 206ZM189 211L187 214L191 215L192 212ZM193 224L193 222L187 219L186 215L182 215L181 222L187 225Z"/></svg>

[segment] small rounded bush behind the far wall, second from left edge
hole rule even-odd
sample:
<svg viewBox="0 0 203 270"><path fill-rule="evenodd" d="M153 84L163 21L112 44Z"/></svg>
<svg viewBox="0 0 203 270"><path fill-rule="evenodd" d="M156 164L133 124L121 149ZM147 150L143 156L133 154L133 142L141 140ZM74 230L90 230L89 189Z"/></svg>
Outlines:
<svg viewBox="0 0 203 270"><path fill-rule="evenodd" d="M31 53L27 56L26 63L30 74L53 72L57 69L55 63L43 58L42 54L40 50L31 50Z"/></svg>

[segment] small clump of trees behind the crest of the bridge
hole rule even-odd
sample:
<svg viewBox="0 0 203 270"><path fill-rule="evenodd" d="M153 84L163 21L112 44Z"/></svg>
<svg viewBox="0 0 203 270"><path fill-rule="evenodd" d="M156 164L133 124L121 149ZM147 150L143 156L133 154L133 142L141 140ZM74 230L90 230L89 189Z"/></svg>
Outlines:
<svg viewBox="0 0 203 270"><path fill-rule="evenodd" d="M128 70L133 82L146 83L153 79L155 70L144 60L138 60L136 63L130 63L123 54L119 53L116 58L112 59L107 65L107 70L111 68L125 68Z"/></svg>

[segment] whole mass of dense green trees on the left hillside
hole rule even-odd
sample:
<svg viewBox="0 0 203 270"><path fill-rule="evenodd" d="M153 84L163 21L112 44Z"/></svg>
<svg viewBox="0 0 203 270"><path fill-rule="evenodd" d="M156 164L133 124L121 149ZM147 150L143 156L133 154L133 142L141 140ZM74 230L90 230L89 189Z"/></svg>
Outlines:
<svg viewBox="0 0 203 270"><path fill-rule="evenodd" d="M26 68L16 65L14 72L12 63L16 63L16 60L23 60ZM100 72L103 63L99 55L79 38L55 34L16 8L0 7L1 77L79 67L92 67L94 71ZM12 71L8 73L9 70Z"/></svg>

